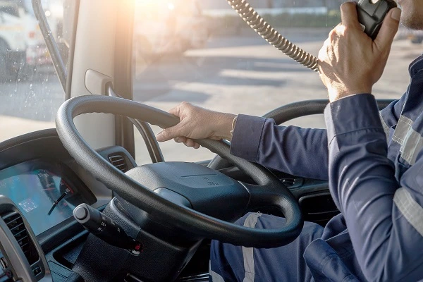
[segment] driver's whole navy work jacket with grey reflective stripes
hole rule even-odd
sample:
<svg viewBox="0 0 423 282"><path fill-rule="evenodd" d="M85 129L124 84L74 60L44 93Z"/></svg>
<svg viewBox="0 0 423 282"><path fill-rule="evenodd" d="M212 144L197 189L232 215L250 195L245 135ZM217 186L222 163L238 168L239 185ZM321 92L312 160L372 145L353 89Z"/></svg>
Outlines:
<svg viewBox="0 0 423 282"><path fill-rule="evenodd" d="M305 250L316 281L423 279L423 56L409 72L407 92L382 111L372 94L326 106L327 130L238 116L232 154L329 180L341 214Z"/></svg>

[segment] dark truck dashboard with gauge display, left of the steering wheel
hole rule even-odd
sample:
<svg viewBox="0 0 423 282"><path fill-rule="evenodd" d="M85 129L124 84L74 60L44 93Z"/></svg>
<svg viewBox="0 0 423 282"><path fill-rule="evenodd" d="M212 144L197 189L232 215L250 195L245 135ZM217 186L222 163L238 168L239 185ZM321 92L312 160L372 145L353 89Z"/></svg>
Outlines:
<svg viewBox="0 0 423 282"><path fill-rule="evenodd" d="M120 156L127 169L136 165L122 147L97 152L105 159ZM63 264L72 259L58 262L57 254L63 244L87 236L73 219L73 209L82 203L104 209L112 197L68 154L55 129L1 142L0 282L70 278Z"/></svg>

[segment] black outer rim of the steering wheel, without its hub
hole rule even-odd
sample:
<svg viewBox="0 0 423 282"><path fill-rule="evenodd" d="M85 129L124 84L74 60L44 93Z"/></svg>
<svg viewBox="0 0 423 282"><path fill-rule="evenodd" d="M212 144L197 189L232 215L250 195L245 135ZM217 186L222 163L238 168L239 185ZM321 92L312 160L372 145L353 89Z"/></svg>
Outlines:
<svg viewBox="0 0 423 282"><path fill-rule="evenodd" d="M176 125L179 118L128 99L99 95L69 99L62 104L57 113L56 130L63 146L71 156L108 188L136 207L152 215L165 216L173 225L203 238L213 238L234 245L278 247L292 242L300 235L303 224L302 214L297 200L288 188L266 168L231 155L225 142L196 140L202 147L228 159L251 176L259 186L242 183L250 192L250 202L257 202L259 197L263 197L269 204L280 207L286 216L285 226L271 230L238 226L175 204L157 195L141 183L137 183L133 178L123 174L83 140L73 123L73 118L80 114L90 113L128 116L159 125L161 128ZM269 188L266 191L261 190L265 186Z"/></svg>

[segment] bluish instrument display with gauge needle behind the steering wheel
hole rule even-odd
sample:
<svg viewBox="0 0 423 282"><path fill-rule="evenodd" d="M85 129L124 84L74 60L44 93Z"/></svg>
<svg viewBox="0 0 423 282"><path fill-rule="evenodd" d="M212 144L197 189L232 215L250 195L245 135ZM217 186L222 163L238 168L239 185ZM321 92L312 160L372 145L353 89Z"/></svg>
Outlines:
<svg viewBox="0 0 423 282"><path fill-rule="evenodd" d="M91 192L71 183L61 164L27 161L0 171L0 195L9 197L30 223L35 235L72 216L78 204L95 202Z"/></svg>

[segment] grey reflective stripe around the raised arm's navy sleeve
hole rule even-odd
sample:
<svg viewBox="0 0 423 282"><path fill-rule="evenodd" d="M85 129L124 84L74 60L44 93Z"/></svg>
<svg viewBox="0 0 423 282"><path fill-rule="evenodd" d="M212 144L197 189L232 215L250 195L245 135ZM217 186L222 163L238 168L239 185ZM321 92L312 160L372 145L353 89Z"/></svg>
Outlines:
<svg viewBox="0 0 423 282"><path fill-rule="evenodd" d="M423 207L421 207L405 188L396 190L393 202L415 230L423 236Z"/></svg>

